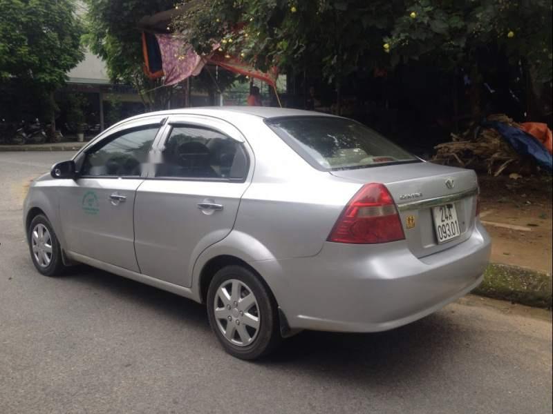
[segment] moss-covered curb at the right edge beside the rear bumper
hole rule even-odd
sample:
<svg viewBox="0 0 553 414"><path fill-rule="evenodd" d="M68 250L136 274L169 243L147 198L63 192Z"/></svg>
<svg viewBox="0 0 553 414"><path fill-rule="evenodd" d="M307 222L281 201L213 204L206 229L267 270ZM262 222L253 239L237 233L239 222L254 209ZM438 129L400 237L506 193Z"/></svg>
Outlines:
<svg viewBox="0 0 553 414"><path fill-rule="evenodd" d="M536 308L552 308L551 275L520 266L490 263L484 281L472 293Z"/></svg>

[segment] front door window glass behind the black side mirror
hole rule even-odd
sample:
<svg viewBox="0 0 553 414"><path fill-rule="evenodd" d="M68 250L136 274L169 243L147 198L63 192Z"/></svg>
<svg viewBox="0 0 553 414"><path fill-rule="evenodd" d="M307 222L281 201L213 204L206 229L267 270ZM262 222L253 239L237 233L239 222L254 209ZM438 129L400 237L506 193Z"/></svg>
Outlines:
<svg viewBox="0 0 553 414"><path fill-rule="evenodd" d="M89 177L140 177L159 126L124 131L86 153L80 174Z"/></svg>

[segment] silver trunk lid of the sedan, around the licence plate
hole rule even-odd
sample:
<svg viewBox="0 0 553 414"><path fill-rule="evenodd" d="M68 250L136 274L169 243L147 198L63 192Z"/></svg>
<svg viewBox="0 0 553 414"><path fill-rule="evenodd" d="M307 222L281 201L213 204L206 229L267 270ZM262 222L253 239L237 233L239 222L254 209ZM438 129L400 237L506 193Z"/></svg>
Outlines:
<svg viewBox="0 0 553 414"><path fill-rule="evenodd" d="M474 228L478 181L473 170L420 162L330 173L348 181L386 185L399 210L409 250L417 257L464 242ZM455 206L460 235L440 244L432 208L446 204Z"/></svg>

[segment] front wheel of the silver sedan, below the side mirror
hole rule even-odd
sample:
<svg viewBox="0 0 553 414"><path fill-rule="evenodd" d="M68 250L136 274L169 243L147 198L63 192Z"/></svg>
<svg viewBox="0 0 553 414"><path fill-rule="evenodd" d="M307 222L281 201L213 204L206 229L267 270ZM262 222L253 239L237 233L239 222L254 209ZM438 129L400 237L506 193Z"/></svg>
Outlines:
<svg viewBox="0 0 553 414"><path fill-rule="evenodd" d="M37 215L32 219L27 238L32 264L39 273L44 276L61 275L65 268L62 261L62 247L50 221L44 215Z"/></svg>

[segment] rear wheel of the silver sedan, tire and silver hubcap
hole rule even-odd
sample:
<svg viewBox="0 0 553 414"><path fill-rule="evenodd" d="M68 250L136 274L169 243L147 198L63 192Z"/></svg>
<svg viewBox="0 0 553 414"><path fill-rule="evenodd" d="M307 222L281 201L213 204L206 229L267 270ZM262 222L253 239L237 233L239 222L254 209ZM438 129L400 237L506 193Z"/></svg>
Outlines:
<svg viewBox="0 0 553 414"><path fill-rule="evenodd" d="M215 274L207 290L207 314L219 342L234 357L263 357L281 342L277 302L243 266L225 266Z"/></svg>

